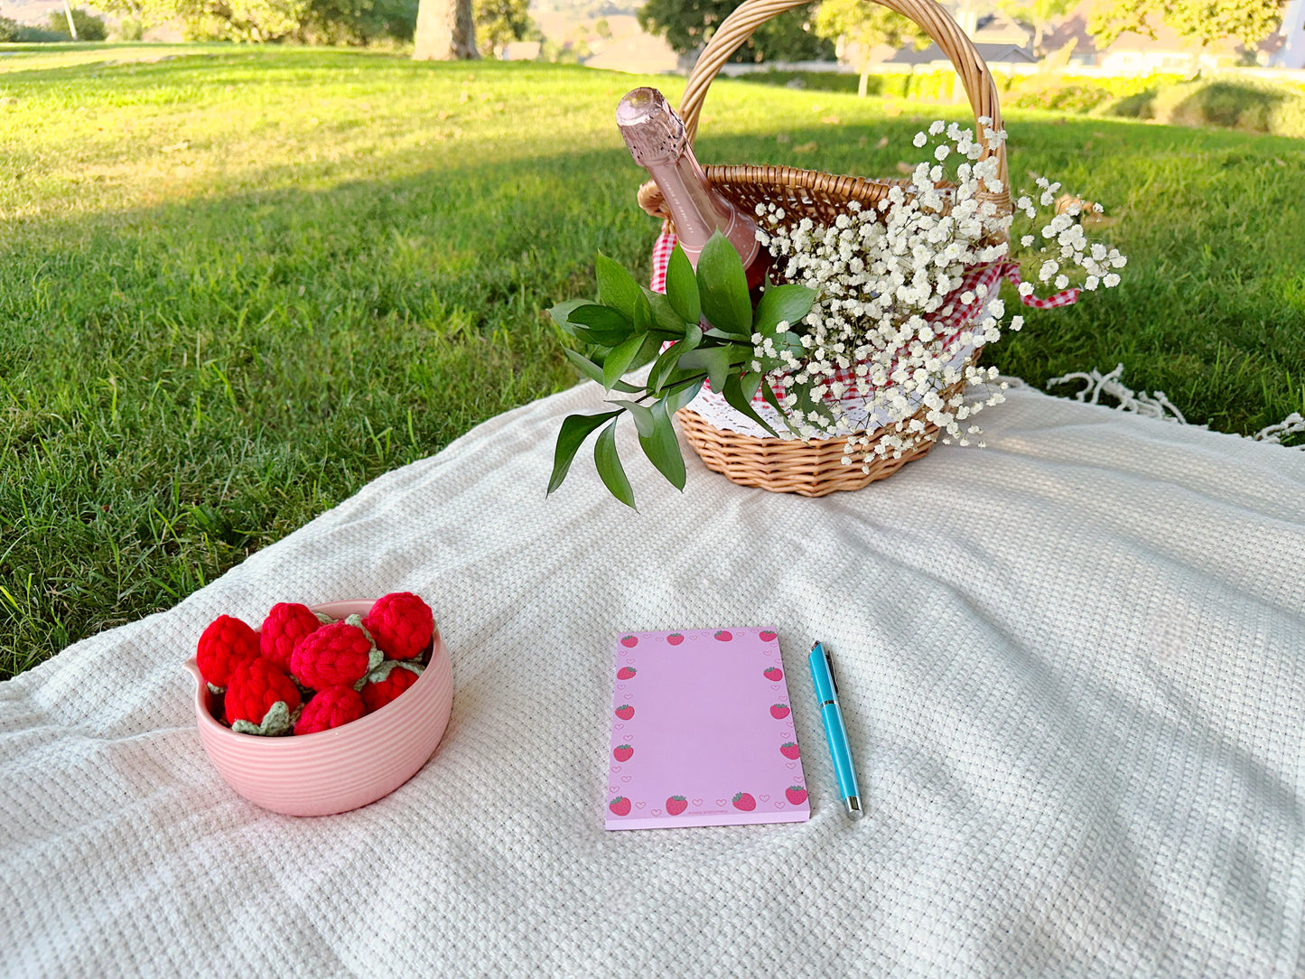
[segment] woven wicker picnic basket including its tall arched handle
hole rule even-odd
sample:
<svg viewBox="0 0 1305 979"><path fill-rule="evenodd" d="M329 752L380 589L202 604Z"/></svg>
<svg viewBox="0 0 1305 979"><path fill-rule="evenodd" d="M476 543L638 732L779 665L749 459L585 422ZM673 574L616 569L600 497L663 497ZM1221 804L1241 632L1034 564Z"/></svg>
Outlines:
<svg viewBox="0 0 1305 979"><path fill-rule="evenodd" d="M951 16L934 0L874 1L915 21L937 42L957 69L970 97L975 119L987 116L994 129L1001 129L997 86L988 72L988 65ZM698 57L684 90L684 98L680 101L680 117L684 119L690 141L697 134L698 115L711 80L729 55L752 37L761 23L804 3L806 0L745 0L724 20ZM1006 189L1005 144L998 144L992 150L985 148L984 158L989 155L997 158L1002 192L989 193L987 197L997 205L998 213L1006 214L1010 213L1010 193ZM706 174L726 197L749 213L757 204L779 204L786 213L784 223L790 225L803 218L810 218L818 225L829 223L843 213L851 201L873 206L887 196L895 183L899 183L774 166L710 166L706 167ZM649 214L669 218L656 184L651 181L643 184L638 200L639 206ZM707 469L743 486L803 496L825 496L837 489L860 489L877 479L885 479L907 462L928 453L933 448L932 435L937 431L934 426L928 426L930 440L898 458L869 456L869 473L863 473L860 465L842 465L846 439L810 441L758 439L718 428L689 409L681 409L677 416L689 444L702 457ZM872 448L874 441L872 436Z"/></svg>

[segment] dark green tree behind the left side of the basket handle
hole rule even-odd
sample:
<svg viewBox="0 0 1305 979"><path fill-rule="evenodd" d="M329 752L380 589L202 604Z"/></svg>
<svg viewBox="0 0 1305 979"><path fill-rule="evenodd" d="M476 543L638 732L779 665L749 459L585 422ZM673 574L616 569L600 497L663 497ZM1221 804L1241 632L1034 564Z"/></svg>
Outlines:
<svg viewBox="0 0 1305 979"><path fill-rule="evenodd" d="M733 13L739 0L647 0L639 8L639 26L666 35L679 54L697 51ZM869 5L869 4L867 4ZM814 61L834 56L834 46L812 30L810 5L773 17L744 42L731 61Z"/></svg>

